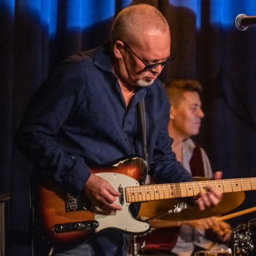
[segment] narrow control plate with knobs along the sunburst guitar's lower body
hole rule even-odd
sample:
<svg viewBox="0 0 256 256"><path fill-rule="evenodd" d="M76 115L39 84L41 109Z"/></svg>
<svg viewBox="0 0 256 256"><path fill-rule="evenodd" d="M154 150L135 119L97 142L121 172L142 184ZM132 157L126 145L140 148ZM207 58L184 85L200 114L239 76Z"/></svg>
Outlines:
<svg viewBox="0 0 256 256"><path fill-rule="evenodd" d="M81 221L81 222L71 222L56 224L52 227L52 232L54 233L65 233L72 231L82 231L95 229L99 226L99 223L95 220L91 221Z"/></svg>

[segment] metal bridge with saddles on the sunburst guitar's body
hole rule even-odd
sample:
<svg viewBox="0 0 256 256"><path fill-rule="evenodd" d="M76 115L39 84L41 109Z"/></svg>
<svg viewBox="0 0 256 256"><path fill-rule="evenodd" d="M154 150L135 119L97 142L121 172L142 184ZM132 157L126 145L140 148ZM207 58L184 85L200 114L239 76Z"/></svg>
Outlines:
<svg viewBox="0 0 256 256"><path fill-rule="evenodd" d="M66 211L85 211L90 208L90 201L81 194L79 197L73 197L71 194L66 194Z"/></svg>

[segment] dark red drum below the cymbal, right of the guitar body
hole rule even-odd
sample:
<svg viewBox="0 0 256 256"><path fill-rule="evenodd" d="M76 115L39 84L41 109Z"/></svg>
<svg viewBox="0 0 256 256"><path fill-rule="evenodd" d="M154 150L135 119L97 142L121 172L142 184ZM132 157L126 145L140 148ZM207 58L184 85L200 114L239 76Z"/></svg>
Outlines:
<svg viewBox="0 0 256 256"><path fill-rule="evenodd" d="M158 229L137 237L141 254L170 253L177 241L178 232L179 228Z"/></svg>

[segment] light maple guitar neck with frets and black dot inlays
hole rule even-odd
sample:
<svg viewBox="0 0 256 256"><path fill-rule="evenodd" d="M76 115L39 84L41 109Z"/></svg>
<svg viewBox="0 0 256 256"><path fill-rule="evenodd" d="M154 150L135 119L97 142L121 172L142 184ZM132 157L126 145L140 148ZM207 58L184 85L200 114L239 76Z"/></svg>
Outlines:
<svg viewBox="0 0 256 256"><path fill-rule="evenodd" d="M207 186L215 187L220 193L256 190L256 178L205 180L126 187L126 201L134 203L193 197L198 195L199 192L207 192Z"/></svg>

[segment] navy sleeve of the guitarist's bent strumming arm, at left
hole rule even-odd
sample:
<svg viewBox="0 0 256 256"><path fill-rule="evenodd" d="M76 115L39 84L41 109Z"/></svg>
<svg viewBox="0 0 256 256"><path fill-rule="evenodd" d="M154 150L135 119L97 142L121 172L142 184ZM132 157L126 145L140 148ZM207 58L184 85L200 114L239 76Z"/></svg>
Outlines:
<svg viewBox="0 0 256 256"><path fill-rule="evenodd" d="M90 170L81 156L63 150L57 135L83 100L83 88L80 66L62 64L31 97L15 137L18 149L34 169L75 197L83 190Z"/></svg>

